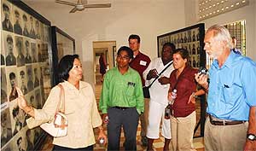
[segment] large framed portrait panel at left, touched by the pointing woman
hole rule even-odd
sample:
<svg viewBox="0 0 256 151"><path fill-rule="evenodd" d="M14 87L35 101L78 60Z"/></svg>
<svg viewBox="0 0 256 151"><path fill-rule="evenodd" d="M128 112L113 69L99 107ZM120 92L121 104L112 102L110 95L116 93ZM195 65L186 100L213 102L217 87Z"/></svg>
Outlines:
<svg viewBox="0 0 256 151"><path fill-rule="evenodd" d="M26 134L15 86L32 107L44 105L53 86L50 22L20 0L2 0L1 7L1 150L38 150L46 133Z"/></svg>

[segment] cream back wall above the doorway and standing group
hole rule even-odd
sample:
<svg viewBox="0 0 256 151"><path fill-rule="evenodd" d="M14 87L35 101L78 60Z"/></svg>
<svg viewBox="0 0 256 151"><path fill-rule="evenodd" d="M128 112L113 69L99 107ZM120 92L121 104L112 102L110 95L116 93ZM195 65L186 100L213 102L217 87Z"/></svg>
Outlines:
<svg viewBox="0 0 256 151"><path fill-rule="evenodd" d="M86 81L94 81L94 73L90 72L93 71L92 42L113 40L119 49L122 45L128 45L131 33L136 33L142 39L142 51L154 58L157 56L156 37L184 26L183 1L180 0L115 2L112 12L107 16L102 22L109 22L108 24L97 24L82 39Z"/></svg>

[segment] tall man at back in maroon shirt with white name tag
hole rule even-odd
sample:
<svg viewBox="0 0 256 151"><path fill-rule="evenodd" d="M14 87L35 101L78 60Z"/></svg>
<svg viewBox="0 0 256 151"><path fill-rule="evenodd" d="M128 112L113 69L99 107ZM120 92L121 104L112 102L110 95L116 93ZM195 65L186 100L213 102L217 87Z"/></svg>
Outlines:
<svg viewBox="0 0 256 151"><path fill-rule="evenodd" d="M135 69L141 76L142 82L143 82L143 86L145 85L145 80L143 78L143 72L146 70L146 68L148 67L149 63L150 63L150 58L148 57L148 55L144 55L142 52L140 52L140 43L141 43L141 38L138 35L130 35L130 37L128 38L129 41L129 47L132 49L133 51L133 55L134 55L134 59L130 62L130 67ZM148 101L145 101L145 112L148 111ZM141 121L141 136L142 136L142 143L143 146L147 146L148 145L148 139L147 139L147 123L146 123L146 119L145 119L145 115L144 113L141 114L140 116L140 121Z"/></svg>

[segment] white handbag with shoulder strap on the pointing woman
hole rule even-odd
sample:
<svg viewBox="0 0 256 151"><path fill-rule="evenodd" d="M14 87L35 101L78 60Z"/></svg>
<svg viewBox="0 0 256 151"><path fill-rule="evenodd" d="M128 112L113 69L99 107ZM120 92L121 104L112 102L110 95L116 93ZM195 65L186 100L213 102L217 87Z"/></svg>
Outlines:
<svg viewBox="0 0 256 151"><path fill-rule="evenodd" d="M55 119L50 123L44 123L40 127L54 137L67 136L67 116L65 115L65 94L61 84L60 99L55 111ZM63 111L60 111L60 104L63 104Z"/></svg>

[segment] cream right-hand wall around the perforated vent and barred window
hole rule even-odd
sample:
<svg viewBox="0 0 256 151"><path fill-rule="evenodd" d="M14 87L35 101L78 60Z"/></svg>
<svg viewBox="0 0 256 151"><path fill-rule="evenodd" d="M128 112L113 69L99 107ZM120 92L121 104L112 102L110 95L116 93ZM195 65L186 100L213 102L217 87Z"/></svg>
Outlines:
<svg viewBox="0 0 256 151"><path fill-rule="evenodd" d="M193 15L186 14L186 24L190 25L193 22L196 22L196 6L194 1L198 3L198 0L185 1L185 10ZM235 9L233 11L224 13L223 15L217 15L207 20L202 20L202 23L205 23L206 29L212 25L219 24L224 25L237 20L246 20L246 47L247 47L247 56L252 58L253 61L256 61L256 1L249 0L249 5L242 7L241 9Z"/></svg>

